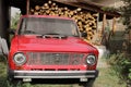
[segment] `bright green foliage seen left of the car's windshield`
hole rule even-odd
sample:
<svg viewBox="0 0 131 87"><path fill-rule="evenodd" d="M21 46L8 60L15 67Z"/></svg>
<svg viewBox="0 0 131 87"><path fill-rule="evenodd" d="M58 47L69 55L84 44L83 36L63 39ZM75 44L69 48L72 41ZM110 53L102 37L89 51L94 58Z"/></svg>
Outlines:
<svg viewBox="0 0 131 87"><path fill-rule="evenodd" d="M16 28L20 16L21 14L16 13L14 16L11 17L11 28Z"/></svg>

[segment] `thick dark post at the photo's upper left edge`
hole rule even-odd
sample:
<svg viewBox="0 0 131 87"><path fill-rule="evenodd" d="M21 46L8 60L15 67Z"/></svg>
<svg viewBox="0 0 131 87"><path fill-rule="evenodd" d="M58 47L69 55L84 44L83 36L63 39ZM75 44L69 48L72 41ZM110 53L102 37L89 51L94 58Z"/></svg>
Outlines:
<svg viewBox="0 0 131 87"><path fill-rule="evenodd" d="M0 0L0 37L4 38L10 46L10 0Z"/></svg>

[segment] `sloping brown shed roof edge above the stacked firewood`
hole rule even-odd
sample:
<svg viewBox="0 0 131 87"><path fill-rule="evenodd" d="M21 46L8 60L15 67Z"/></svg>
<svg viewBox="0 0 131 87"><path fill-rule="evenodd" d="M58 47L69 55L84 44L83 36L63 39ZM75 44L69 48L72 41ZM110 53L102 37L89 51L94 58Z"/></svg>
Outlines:
<svg viewBox="0 0 131 87"><path fill-rule="evenodd" d="M112 17L112 16L116 16L116 17L120 16L120 14L117 11L104 11L103 8L107 8L107 7L104 7L102 4L94 3L91 1L86 1L86 0L72 0L72 1L53 0L53 1L57 1L57 2L60 2L63 4L70 4L73 7L80 7L80 8L83 8L85 10L93 11L93 12L98 12L98 13L103 13L103 14L106 13L108 15L108 18Z"/></svg>

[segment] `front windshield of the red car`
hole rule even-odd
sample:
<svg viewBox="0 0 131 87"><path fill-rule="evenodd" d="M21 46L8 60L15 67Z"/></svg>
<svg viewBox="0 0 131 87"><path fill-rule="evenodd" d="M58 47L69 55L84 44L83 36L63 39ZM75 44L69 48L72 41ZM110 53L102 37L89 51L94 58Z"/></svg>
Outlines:
<svg viewBox="0 0 131 87"><path fill-rule="evenodd" d="M23 18L19 34L59 34L66 36L79 36L76 25L71 20L27 17Z"/></svg>

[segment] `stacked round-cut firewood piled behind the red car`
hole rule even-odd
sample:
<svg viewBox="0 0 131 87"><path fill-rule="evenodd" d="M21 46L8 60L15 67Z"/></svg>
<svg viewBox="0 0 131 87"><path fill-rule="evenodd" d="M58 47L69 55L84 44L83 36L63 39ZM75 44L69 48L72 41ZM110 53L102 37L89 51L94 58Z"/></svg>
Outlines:
<svg viewBox="0 0 131 87"><path fill-rule="evenodd" d="M31 7L29 14L71 17L78 23L80 32L87 33L87 37L85 37L87 40L92 40L96 30L97 14L91 14L81 8L71 10L68 7L60 7L50 0L43 5Z"/></svg>

